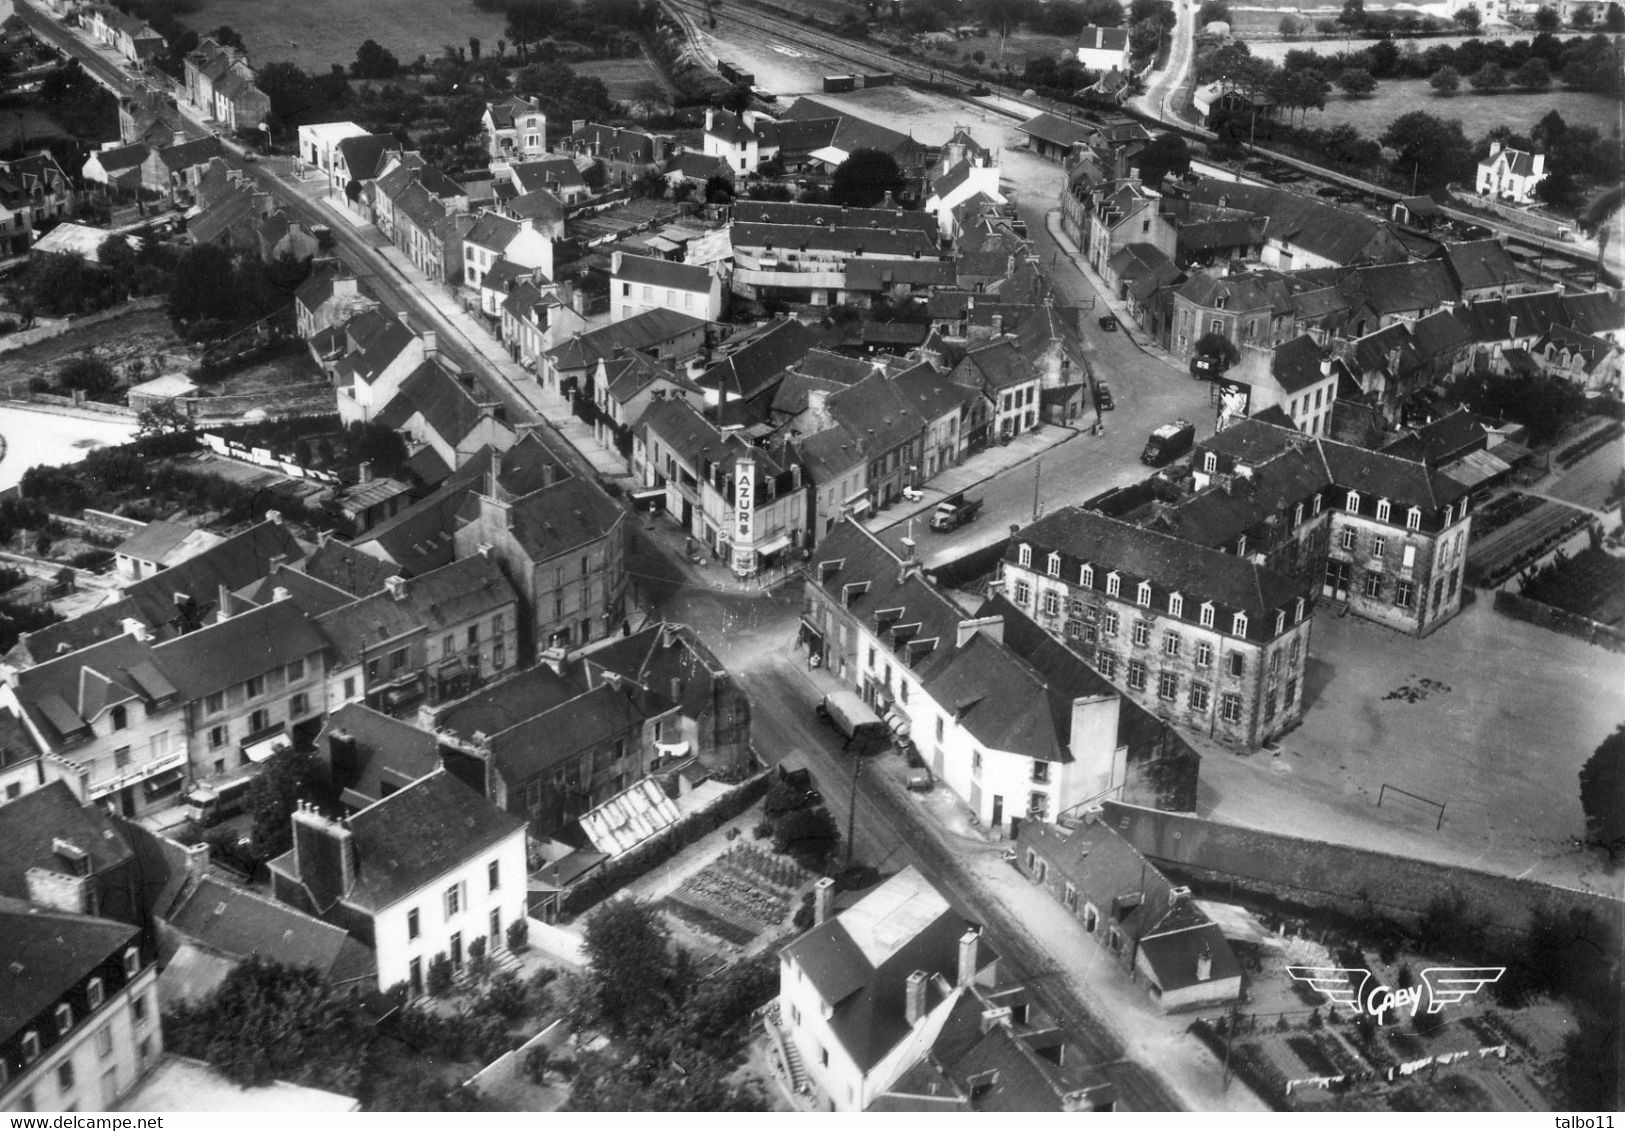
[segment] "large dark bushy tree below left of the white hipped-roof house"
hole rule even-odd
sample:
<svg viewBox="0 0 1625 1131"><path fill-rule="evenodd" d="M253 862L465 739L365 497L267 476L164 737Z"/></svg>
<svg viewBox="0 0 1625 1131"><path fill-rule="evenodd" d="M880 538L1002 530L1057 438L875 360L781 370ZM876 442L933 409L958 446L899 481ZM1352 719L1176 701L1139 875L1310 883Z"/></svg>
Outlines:
<svg viewBox="0 0 1625 1131"><path fill-rule="evenodd" d="M244 1087L288 1081L354 1095L369 1032L314 967L249 957L202 1003L164 1017L164 1043Z"/></svg>

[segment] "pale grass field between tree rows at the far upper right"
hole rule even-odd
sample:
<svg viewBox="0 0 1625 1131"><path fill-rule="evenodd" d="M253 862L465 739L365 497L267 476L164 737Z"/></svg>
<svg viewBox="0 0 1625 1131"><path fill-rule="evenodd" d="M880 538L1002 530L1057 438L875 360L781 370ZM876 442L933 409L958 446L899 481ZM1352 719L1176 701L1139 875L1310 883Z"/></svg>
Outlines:
<svg viewBox="0 0 1625 1131"><path fill-rule="evenodd" d="M1388 124L1410 110L1427 110L1443 119L1461 119L1461 128L1477 140L1497 125L1510 125L1524 133L1549 110L1557 110L1570 125L1594 125L1609 136L1620 120L1620 102L1607 94L1583 91L1547 91L1544 94L1453 94L1440 98L1427 80L1399 80L1378 84L1370 98L1352 99L1332 93L1324 110L1310 110L1305 125L1329 128L1352 125L1368 138L1376 138Z"/></svg>

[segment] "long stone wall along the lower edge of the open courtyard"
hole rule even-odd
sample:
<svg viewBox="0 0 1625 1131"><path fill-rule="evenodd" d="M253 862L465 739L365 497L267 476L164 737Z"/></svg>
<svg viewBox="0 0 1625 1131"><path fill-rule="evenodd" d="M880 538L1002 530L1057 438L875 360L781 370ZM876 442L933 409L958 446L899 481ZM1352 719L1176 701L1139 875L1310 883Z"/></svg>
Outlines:
<svg viewBox="0 0 1625 1131"><path fill-rule="evenodd" d="M1159 868L1216 897L1264 895L1373 920L1375 926L1378 918L1415 925L1428 904L1459 895L1469 913L1503 936L1498 942L1521 936L1540 905L1558 913L1591 912L1604 931L1596 942L1609 952L1625 939L1625 904L1604 895L1118 801L1103 808L1112 827Z"/></svg>

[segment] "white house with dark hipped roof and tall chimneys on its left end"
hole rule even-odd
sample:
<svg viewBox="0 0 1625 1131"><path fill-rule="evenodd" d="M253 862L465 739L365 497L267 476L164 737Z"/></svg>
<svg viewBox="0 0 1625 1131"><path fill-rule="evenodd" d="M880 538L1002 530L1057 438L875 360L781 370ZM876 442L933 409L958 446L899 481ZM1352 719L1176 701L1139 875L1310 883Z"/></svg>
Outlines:
<svg viewBox="0 0 1625 1131"><path fill-rule="evenodd" d="M424 993L431 964L460 970L476 939L500 952L525 916L525 821L444 769L348 821L297 809L270 868L280 900L372 944L379 990Z"/></svg>

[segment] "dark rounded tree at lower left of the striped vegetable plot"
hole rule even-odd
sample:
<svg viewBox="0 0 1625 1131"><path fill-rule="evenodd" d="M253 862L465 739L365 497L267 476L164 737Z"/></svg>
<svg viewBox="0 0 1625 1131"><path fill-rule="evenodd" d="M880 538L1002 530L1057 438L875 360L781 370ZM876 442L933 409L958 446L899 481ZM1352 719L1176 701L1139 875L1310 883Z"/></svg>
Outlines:
<svg viewBox="0 0 1625 1131"><path fill-rule="evenodd" d="M587 920L582 949L609 1027L626 1032L652 1024L682 999L670 942L660 912L642 900L609 900Z"/></svg>

